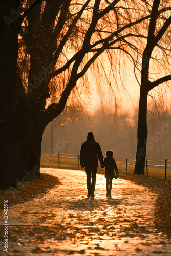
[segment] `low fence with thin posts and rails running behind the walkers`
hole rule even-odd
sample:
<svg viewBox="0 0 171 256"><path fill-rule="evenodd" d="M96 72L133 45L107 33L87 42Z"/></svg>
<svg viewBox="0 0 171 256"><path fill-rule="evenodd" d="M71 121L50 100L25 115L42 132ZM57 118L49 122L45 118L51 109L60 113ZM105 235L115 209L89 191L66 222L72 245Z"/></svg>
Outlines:
<svg viewBox="0 0 171 256"><path fill-rule="evenodd" d="M69 159L77 159L78 160L78 167L79 167L79 154L65 154L65 153L54 153L54 154L41 154L42 156L48 156L48 157L58 157L58 165L60 167L60 158L69 158ZM62 155L62 156L61 156ZM76 155L75 157L70 157L70 156ZM125 159L126 162L116 162L119 164L126 164L126 173L127 173L127 167L128 165L135 165L135 163L129 163L128 161L133 161L136 162L134 159L130 158L124 158L124 157L115 157L115 159ZM165 180L167 176L167 167L171 167L171 165L168 165L167 162L170 162L171 160L169 159L164 159L164 160L149 160L146 159L145 161L145 167L146 167L146 175L148 176L148 166L153 166L153 167L165 167ZM165 162L164 165L157 165L157 164L148 164L148 162Z"/></svg>

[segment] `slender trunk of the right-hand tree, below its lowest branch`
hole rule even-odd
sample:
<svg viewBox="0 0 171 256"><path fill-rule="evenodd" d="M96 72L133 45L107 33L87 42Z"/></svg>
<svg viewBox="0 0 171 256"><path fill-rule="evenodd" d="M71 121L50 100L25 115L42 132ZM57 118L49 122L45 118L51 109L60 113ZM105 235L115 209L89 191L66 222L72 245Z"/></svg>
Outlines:
<svg viewBox="0 0 171 256"><path fill-rule="evenodd" d="M144 90L142 84L140 89L139 113L138 113L138 144L136 153L136 164L134 174L144 175L145 157L146 157L146 140L147 140L147 95L148 91Z"/></svg>

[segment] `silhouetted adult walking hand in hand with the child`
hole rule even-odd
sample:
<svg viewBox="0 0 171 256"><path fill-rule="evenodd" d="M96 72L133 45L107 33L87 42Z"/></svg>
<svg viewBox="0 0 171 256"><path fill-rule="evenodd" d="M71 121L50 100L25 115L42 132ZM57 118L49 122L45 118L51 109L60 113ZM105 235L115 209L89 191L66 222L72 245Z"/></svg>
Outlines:
<svg viewBox="0 0 171 256"><path fill-rule="evenodd" d="M98 158L100 164L103 165L100 145L94 140L93 133L89 132L87 141L82 144L80 151L80 165L86 168L88 197L94 197Z"/></svg>

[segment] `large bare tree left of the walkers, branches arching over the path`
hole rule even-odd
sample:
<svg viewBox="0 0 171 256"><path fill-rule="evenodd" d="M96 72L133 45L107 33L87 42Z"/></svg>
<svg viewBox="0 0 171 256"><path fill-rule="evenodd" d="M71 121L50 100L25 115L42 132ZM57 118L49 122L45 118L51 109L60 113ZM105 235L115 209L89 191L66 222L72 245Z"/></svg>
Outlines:
<svg viewBox="0 0 171 256"><path fill-rule="evenodd" d="M26 50L27 55L18 62L12 94L13 119L9 122L13 131L9 159L12 158L13 164L11 168L10 164L7 167L1 163L2 187L15 185L18 179L28 180L28 172L32 177L39 177L41 140L46 125L63 111L77 81L91 64L106 49L112 46L118 49L121 39L134 36L127 33L127 29L147 19L143 15L129 24L125 20L117 27L113 12L119 2L39 1L25 15L22 30L18 31L20 54ZM31 7L29 2L24 4ZM21 72L23 61L29 67L26 76ZM5 144L6 141L4 137ZM6 148L8 150L8 145ZM7 151L3 152L2 148L2 153L4 156Z"/></svg>

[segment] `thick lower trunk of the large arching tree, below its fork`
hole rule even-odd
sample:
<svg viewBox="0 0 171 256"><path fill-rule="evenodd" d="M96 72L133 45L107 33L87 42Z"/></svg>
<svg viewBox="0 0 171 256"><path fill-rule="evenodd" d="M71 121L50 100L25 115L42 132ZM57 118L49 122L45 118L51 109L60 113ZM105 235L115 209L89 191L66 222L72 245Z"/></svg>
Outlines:
<svg viewBox="0 0 171 256"><path fill-rule="evenodd" d="M16 182L30 181L40 178L41 141L46 125L40 121L33 109L18 116L18 130L15 140L15 171Z"/></svg>

